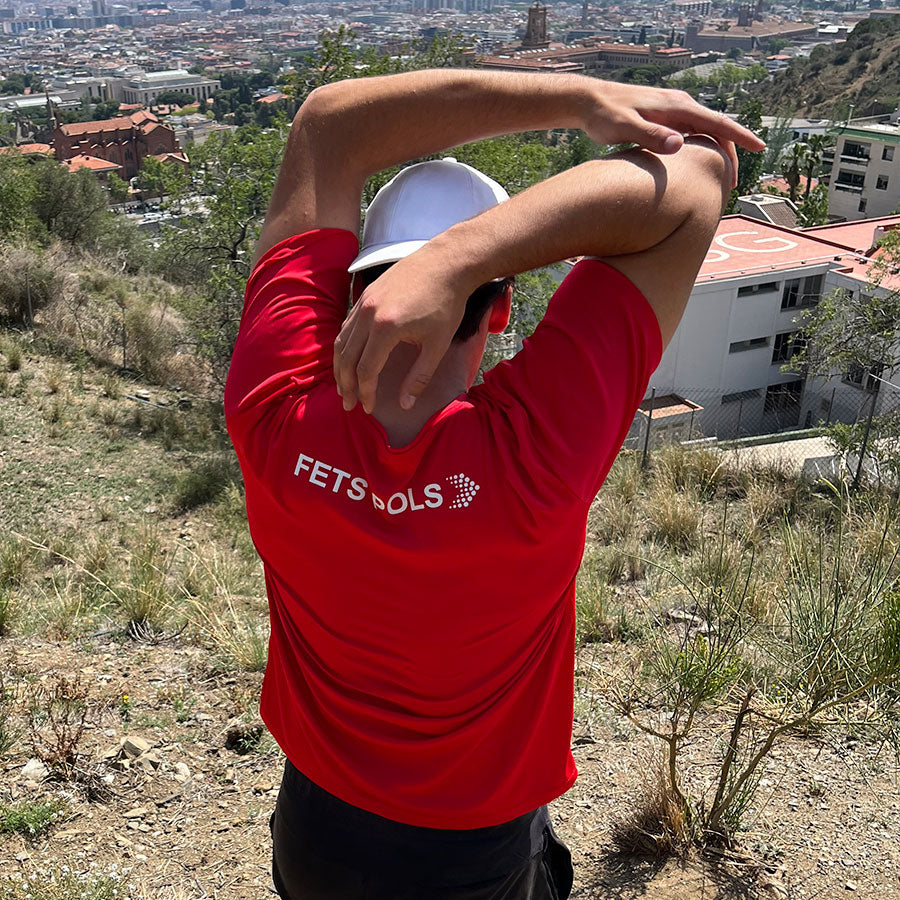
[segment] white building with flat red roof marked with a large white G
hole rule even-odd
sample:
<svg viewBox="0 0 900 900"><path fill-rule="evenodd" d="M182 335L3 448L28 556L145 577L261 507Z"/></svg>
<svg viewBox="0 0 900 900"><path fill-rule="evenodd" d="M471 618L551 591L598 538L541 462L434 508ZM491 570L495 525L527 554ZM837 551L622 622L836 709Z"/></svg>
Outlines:
<svg viewBox="0 0 900 900"><path fill-rule="evenodd" d="M632 439L648 420L654 443L855 421L873 387L867 373L807 385L782 369L802 346L804 310L836 287L872 290L866 254L894 227L900 216L807 231L722 219Z"/></svg>

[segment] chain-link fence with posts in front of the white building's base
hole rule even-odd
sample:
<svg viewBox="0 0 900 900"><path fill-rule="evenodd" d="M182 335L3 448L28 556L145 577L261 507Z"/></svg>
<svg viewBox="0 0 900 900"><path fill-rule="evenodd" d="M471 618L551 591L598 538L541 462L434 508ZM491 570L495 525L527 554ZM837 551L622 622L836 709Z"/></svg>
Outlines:
<svg viewBox="0 0 900 900"><path fill-rule="evenodd" d="M841 423L851 426L835 429ZM883 478L900 458L900 388L871 376L767 388L659 390L638 408L625 447L644 465L661 447L733 451L809 474Z"/></svg>

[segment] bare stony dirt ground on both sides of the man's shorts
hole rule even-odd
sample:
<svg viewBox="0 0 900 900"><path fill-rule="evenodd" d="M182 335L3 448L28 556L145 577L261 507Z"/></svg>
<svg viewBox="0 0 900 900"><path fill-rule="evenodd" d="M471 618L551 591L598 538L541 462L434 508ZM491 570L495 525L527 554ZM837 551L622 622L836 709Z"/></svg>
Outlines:
<svg viewBox="0 0 900 900"><path fill-rule="evenodd" d="M4 765L0 799L57 797L67 811L43 837L0 836L0 872L40 877L54 863L117 862L146 898L274 896L267 823L283 757L268 735L257 742L251 732L249 747L227 746L230 729L258 723L261 675L223 675L202 650L109 635L78 644L7 639L0 665L21 685L80 674L92 702L84 766L112 791L105 802L88 802L72 785L29 781L23 738ZM124 736L144 738L158 767L122 770ZM794 740L773 754L741 852L658 861L617 855L610 841L610 825L640 795L655 751L611 715L576 717L580 777L551 807L572 849L572 897L900 898L898 773L876 749L846 738Z"/></svg>

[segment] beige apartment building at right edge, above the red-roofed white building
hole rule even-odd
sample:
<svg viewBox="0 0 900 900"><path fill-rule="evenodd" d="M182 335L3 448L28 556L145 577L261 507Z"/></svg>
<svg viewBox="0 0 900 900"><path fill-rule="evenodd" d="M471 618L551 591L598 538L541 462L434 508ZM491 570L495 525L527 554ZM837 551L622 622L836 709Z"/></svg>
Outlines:
<svg viewBox="0 0 900 900"><path fill-rule="evenodd" d="M834 220L885 216L900 207L900 115L892 119L831 130L836 143L826 162L831 163L828 212Z"/></svg>

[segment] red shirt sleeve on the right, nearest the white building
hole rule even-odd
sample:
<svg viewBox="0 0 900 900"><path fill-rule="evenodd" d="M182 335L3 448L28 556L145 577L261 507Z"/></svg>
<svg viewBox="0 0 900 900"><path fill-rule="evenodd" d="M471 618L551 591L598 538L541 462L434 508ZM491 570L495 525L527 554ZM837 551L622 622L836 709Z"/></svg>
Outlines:
<svg viewBox="0 0 900 900"><path fill-rule="evenodd" d="M611 266L584 259L519 353L485 375L484 388L516 423L521 458L590 502L661 356L659 323L643 294Z"/></svg>

